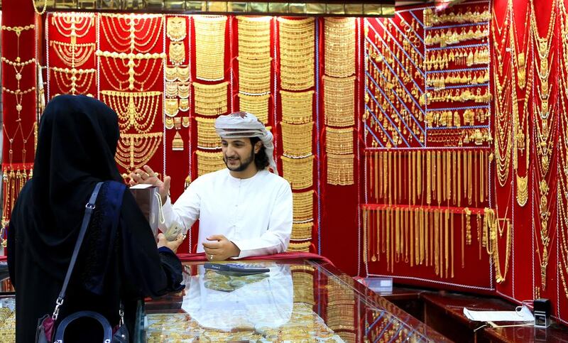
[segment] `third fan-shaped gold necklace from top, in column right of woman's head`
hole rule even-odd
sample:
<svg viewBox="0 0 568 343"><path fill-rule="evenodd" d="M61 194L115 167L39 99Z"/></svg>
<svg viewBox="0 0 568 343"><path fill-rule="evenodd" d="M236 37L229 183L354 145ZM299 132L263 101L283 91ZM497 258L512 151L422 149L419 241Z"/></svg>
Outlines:
<svg viewBox="0 0 568 343"><path fill-rule="evenodd" d="M101 100L118 114L121 131L134 129L138 134L143 134L153 128L162 92L102 90L100 94Z"/></svg>

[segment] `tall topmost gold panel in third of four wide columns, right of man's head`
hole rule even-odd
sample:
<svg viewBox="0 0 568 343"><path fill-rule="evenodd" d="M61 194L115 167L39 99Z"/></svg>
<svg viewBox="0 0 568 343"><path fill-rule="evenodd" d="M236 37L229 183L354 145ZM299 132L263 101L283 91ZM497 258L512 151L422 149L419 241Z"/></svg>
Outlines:
<svg viewBox="0 0 568 343"><path fill-rule="evenodd" d="M314 18L278 18L280 23L280 87L305 90L314 86Z"/></svg>

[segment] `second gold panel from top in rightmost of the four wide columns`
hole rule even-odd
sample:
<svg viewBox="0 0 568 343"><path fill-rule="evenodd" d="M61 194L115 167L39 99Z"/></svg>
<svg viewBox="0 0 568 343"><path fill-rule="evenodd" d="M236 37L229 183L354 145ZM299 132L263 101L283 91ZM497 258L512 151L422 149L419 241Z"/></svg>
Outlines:
<svg viewBox="0 0 568 343"><path fill-rule="evenodd" d="M325 124L352 126L355 124L355 76L323 77Z"/></svg>

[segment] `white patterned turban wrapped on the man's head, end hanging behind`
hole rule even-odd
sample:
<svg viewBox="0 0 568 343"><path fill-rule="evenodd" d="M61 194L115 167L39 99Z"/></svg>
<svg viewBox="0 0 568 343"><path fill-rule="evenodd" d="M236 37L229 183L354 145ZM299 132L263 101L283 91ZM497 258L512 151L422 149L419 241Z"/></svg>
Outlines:
<svg viewBox="0 0 568 343"><path fill-rule="evenodd" d="M235 112L226 116L219 116L215 120L215 131L221 138L261 138L261 142L266 148L268 156L268 166L278 175L276 163L274 161L274 144L271 131L268 131L264 124L256 116L248 112Z"/></svg>

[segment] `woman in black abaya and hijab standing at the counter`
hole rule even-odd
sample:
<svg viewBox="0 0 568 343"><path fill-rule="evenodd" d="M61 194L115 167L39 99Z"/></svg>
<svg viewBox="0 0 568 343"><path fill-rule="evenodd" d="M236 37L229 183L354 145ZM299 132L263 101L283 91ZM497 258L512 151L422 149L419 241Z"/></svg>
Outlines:
<svg viewBox="0 0 568 343"><path fill-rule="evenodd" d="M180 290L182 241L154 236L126 190L114 154L116 113L84 96L52 99L40 121L33 178L13 208L8 263L16 288L16 340L33 342L38 318L52 313L77 241L84 206L94 186L107 181L81 246L58 322L73 312L99 312L119 324L119 304L133 338L136 300ZM102 330L86 320L72 324L67 342L101 342Z"/></svg>

